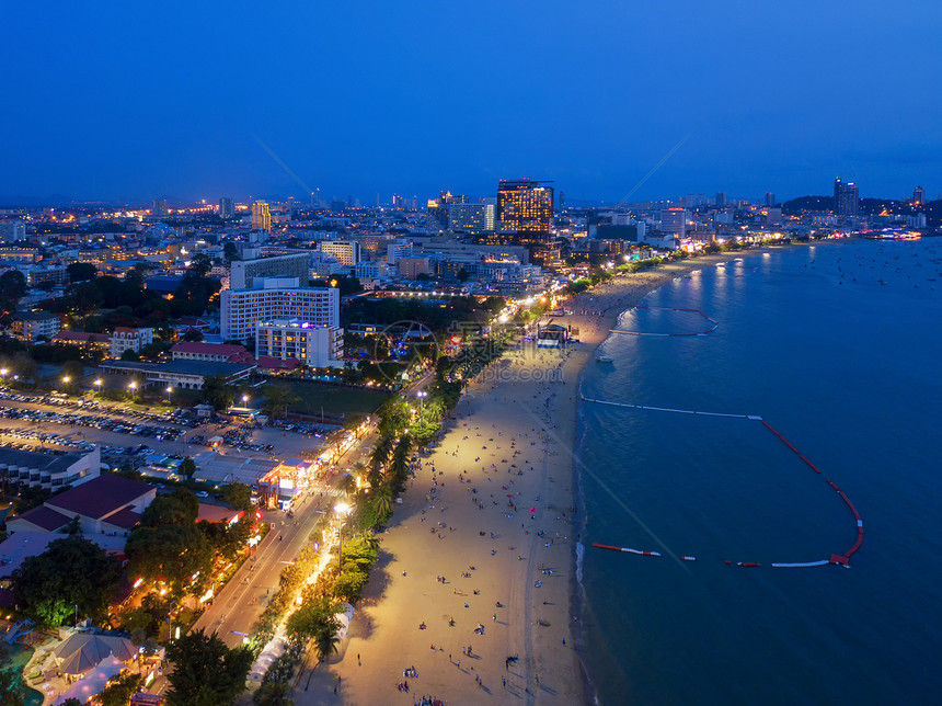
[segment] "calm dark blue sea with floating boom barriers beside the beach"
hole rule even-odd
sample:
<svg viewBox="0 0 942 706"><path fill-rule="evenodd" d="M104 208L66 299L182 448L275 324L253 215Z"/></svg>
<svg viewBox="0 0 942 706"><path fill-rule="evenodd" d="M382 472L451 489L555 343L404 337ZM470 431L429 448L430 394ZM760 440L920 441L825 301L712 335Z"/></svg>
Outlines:
<svg viewBox="0 0 942 706"><path fill-rule="evenodd" d="M759 421L582 403L599 702L942 703L942 239L747 255L643 304L720 326L610 337L616 363L591 364L585 397L761 415L823 475ZM711 326L633 309L618 328ZM851 568L771 568L855 542L825 478L863 520Z"/></svg>

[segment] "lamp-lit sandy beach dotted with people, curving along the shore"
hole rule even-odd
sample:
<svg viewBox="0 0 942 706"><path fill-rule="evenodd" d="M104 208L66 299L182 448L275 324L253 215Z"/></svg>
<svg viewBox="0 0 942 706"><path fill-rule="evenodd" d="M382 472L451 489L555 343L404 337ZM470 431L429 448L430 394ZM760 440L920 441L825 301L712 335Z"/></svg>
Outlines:
<svg viewBox="0 0 942 706"><path fill-rule="evenodd" d="M647 293L759 252L599 285L555 319L578 328L579 343L521 343L471 383L395 508L340 653L300 675L295 703L588 703L573 524L581 373L617 316Z"/></svg>

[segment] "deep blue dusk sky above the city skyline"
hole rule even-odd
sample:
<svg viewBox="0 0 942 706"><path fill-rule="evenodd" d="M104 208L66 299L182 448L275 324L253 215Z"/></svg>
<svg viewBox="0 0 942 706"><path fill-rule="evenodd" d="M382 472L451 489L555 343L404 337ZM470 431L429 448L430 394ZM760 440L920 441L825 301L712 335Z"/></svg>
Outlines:
<svg viewBox="0 0 942 706"><path fill-rule="evenodd" d="M940 26L938 0L21 0L0 200L372 204L532 176L611 202L685 138L632 201L836 175L934 198Z"/></svg>

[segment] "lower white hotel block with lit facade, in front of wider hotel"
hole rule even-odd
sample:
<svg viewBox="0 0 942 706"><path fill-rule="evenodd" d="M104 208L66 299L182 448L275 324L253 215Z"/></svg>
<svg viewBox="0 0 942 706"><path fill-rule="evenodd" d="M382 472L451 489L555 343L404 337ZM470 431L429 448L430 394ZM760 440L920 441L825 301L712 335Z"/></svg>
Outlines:
<svg viewBox="0 0 942 706"><path fill-rule="evenodd" d="M282 361L297 358L311 367L343 366L343 329L291 319L259 321L255 331L256 358L268 355Z"/></svg>

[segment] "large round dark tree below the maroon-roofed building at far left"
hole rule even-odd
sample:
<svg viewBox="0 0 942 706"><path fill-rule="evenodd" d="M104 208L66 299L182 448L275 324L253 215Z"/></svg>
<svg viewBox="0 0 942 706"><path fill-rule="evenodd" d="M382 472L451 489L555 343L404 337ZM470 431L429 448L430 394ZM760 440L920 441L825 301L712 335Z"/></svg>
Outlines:
<svg viewBox="0 0 942 706"><path fill-rule="evenodd" d="M13 572L13 593L24 615L41 627L58 627L76 611L101 623L120 573L120 562L96 544L66 537L23 561Z"/></svg>

